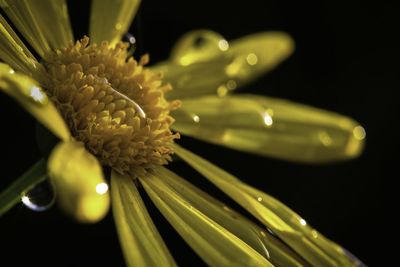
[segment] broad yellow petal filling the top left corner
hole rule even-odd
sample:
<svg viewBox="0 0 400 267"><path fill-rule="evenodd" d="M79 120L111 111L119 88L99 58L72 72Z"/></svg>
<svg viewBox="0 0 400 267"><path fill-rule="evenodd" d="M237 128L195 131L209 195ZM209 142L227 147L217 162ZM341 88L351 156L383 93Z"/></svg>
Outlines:
<svg viewBox="0 0 400 267"><path fill-rule="evenodd" d="M4 0L1 7L41 57L73 41L65 0Z"/></svg>

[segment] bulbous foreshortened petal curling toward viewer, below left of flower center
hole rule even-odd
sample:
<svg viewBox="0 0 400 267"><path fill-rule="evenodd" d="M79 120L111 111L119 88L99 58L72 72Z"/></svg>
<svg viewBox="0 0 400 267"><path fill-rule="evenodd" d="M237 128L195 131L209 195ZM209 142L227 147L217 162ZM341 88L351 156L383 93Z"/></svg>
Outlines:
<svg viewBox="0 0 400 267"><path fill-rule="evenodd" d="M108 212L110 197L101 166L81 143L62 142L48 161L60 206L76 220L93 223Z"/></svg>

